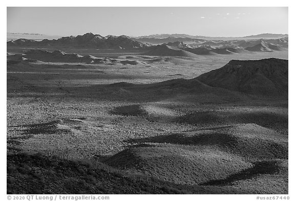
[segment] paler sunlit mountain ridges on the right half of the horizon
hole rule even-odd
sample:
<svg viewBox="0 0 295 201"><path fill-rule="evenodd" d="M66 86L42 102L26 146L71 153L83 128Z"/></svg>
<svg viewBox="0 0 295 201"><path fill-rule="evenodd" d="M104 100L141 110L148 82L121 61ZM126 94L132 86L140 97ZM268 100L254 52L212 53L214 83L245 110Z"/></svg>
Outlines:
<svg viewBox="0 0 295 201"><path fill-rule="evenodd" d="M255 54L256 52L287 51L288 41L280 39L254 39L233 41L206 41L186 44L182 41L168 42L150 47L146 54L152 56Z"/></svg>

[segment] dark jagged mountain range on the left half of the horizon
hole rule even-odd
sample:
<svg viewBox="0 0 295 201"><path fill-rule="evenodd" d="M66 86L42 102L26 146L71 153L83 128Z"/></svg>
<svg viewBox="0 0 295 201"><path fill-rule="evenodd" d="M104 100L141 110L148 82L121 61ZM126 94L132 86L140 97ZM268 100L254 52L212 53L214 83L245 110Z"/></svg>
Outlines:
<svg viewBox="0 0 295 201"><path fill-rule="evenodd" d="M44 39L41 41L17 39L7 42L7 47L56 47L56 48L95 48L95 49L132 49L149 47L150 44L135 41L128 36L106 36L86 33L76 37L61 37L57 40Z"/></svg>

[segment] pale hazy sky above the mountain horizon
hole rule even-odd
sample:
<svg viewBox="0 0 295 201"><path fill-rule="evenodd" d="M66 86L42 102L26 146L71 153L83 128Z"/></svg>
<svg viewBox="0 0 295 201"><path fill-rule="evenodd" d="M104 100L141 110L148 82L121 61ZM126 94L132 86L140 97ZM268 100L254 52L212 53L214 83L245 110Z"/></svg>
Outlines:
<svg viewBox="0 0 295 201"><path fill-rule="evenodd" d="M7 32L142 36L288 33L287 7L7 7Z"/></svg>

